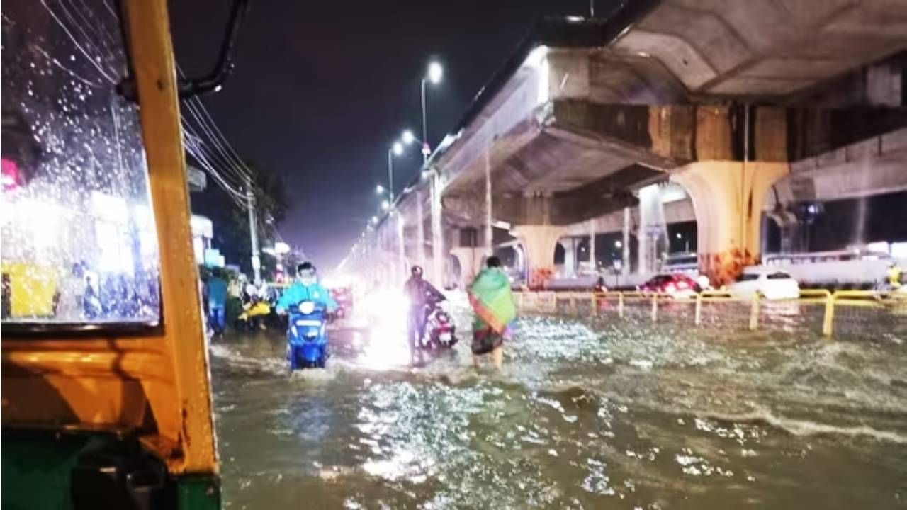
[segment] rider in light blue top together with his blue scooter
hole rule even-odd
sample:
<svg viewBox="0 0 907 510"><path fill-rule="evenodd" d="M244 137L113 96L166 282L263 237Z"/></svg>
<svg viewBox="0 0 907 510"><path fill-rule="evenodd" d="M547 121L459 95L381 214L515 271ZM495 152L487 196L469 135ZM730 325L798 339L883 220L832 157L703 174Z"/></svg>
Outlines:
<svg viewBox="0 0 907 510"><path fill-rule="evenodd" d="M299 264L296 281L280 296L277 309L278 314L289 314L290 369L324 367L327 358L325 319L334 314L337 304L330 292L318 283L311 262Z"/></svg>

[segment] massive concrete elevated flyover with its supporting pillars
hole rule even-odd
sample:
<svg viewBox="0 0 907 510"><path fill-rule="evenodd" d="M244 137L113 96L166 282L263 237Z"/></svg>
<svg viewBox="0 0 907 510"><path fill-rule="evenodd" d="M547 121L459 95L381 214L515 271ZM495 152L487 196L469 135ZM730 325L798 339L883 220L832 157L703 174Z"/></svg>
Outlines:
<svg viewBox="0 0 907 510"><path fill-rule="evenodd" d="M491 250L497 225L543 272L561 235L672 180L696 210L700 269L727 280L758 260L766 194L792 168L875 140L861 168L907 179L905 50L907 0L628 1L543 20L401 194L404 257L440 275L453 248ZM462 246L456 229L485 233ZM468 273L481 257L466 259Z"/></svg>

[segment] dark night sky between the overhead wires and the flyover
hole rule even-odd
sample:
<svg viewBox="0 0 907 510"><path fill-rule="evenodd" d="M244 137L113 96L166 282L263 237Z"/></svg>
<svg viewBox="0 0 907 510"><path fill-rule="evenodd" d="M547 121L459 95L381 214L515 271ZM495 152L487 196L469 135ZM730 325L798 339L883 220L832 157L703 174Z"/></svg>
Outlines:
<svg viewBox="0 0 907 510"><path fill-rule="evenodd" d="M610 5L598 0L596 9ZM242 157L283 174L293 204L283 237L333 266L375 214L388 146L405 127L421 131L429 60L444 64L444 82L428 95L434 148L535 20L588 8L588 0L252 0L235 72L204 103ZM171 2L187 74L213 63L228 14L228 0ZM418 171L418 148L395 163L399 191Z"/></svg>

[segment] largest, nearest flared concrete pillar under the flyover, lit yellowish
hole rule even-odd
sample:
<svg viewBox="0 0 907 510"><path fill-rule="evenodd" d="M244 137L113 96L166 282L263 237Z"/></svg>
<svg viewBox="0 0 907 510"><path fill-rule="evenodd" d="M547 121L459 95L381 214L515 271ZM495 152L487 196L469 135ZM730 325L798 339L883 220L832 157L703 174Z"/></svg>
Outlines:
<svg viewBox="0 0 907 510"><path fill-rule="evenodd" d="M707 161L671 175L693 201L699 270L714 284L727 284L761 259L766 194L788 172L786 162Z"/></svg>

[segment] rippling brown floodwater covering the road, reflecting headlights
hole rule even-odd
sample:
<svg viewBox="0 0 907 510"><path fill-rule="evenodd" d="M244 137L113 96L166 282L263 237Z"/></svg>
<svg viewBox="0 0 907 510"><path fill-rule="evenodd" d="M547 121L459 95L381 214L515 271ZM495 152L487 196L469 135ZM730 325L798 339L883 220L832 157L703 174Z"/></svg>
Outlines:
<svg viewBox="0 0 907 510"><path fill-rule="evenodd" d="M331 334L292 375L282 334L213 343L225 507L907 508L890 329L524 318L500 374L465 341L411 368L399 329Z"/></svg>

